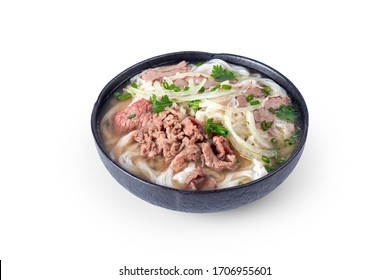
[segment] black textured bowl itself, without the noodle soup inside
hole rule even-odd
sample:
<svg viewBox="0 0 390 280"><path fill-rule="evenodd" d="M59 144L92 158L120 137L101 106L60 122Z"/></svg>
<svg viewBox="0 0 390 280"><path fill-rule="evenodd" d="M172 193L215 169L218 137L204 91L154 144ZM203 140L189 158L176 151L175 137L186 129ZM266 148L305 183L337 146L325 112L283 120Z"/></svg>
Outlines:
<svg viewBox="0 0 390 280"><path fill-rule="evenodd" d="M241 65L249 70L260 72L280 86L282 86L292 103L299 111L298 125L301 128L298 144L290 158L279 168L271 171L266 176L250 183L236 187L217 189L212 191L188 191L160 186L140 179L116 164L110 159L104 150L103 141L99 135L99 122L101 112L107 99L132 76L148 68L162 65L175 64L182 60L188 62L207 61L210 59L222 59L228 63ZM279 186L293 171L297 165L306 142L309 125L309 115L306 103L294 84L277 70L264 63L244 56L226 53L206 53L197 51L183 51L159 55L139 62L113 78L101 91L92 111L92 134L99 156L115 180L132 194L139 198L172 210L183 212L207 213L234 209L247 203L256 201Z"/></svg>

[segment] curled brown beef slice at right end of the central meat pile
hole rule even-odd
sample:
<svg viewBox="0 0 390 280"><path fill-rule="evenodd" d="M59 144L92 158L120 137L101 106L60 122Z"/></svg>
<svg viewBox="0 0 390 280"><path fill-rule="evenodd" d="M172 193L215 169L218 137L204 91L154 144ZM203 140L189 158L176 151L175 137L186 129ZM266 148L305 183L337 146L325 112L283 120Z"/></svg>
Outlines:
<svg viewBox="0 0 390 280"><path fill-rule="evenodd" d="M221 138L223 138L224 140ZM215 155L210 143L202 144L202 153L204 156L205 164L211 169L217 171L233 169L236 166L237 158L233 153L232 149L230 149L227 140L222 136L214 136L213 142L216 147L217 155Z"/></svg>

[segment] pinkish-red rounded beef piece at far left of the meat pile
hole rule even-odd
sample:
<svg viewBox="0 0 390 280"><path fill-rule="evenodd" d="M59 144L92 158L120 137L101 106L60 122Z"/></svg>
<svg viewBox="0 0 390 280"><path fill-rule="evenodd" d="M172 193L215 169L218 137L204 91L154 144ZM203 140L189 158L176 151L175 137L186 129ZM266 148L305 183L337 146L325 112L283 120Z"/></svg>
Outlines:
<svg viewBox="0 0 390 280"><path fill-rule="evenodd" d="M131 106L126 107L116 113L113 117L115 129L120 133L130 132L140 129L152 117L152 104L146 99L140 99ZM135 117L129 119L130 115Z"/></svg>

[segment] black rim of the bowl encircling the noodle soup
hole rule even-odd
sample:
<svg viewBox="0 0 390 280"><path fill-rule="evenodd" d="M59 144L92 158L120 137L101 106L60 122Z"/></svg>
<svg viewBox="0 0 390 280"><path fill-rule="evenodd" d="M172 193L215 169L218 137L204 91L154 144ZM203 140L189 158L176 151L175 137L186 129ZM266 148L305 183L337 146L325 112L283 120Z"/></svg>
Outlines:
<svg viewBox="0 0 390 280"><path fill-rule="evenodd" d="M210 56L211 58L209 60L217 59L217 58L218 59L222 59L221 57L229 57L229 58L233 58L233 59L243 60L243 61L246 61L246 62L251 63L251 64L254 63L256 65L260 65L262 68L268 70L269 73L272 73L272 74L274 74L276 76L279 76L281 79L285 80L286 83L289 84L289 86L295 91L295 95L300 100L299 109L300 109L300 112L301 112L302 124L304 124L303 128L300 130L299 141L297 143L297 146L295 147L295 149L294 149L293 153L290 155L290 157L282 165L280 165L277 169L273 170L272 172L269 172L268 174L266 174L266 175L264 175L264 176L262 176L262 177L260 177L260 178L258 178L256 180L250 181L250 182L242 184L242 185L234 186L234 187L221 188L221 189L215 189L215 190L204 190L204 191L193 191L193 190L177 189L177 188L173 188L173 187L167 187L167 186L151 183L149 181L146 181L146 180L144 180L142 178L139 178L139 177L131 174L129 171L125 170L119 164L117 164L114 160L112 160L111 157L105 151L105 148L103 147L103 143L101 143L101 141L99 139L99 136L98 136L99 135L99 131L98 131L98 123L99 123L99 114L98 113L99 112L98 111L100 111L99 110L100 106L104 106L104 104L100 105L101 102L105 103L108 100L108 98L113 94L113 92L117 88L120 88L121 86L123 86L126 83L126 81L128 79L130 79L134 75L138 74L138 73L136 73L136 74L133 74L132 76L128 76L127 72L129 72L129 71L131 71L133 69L136 69L137 67L150 64L150 62L152 62L152 61L159 60L159 59L170 58L170 57L174 57L176 55ZM158 67L158 66L162 66L162 65L169 65L169 64L175 63L176 61L178 61L178 60L167 60L166 62L164 61L163 63L152 64L151 66L149 66L147 68L142 68L141 71L149 69L150 67ZM231 63L231 62L228 62L228 63L235 64L235 65L238 65L238 66L242 66L242 67L245 67L245 68L250 68L248 66L241 65L241 64L236 64L236 63ZM260 72L258 70L255 70L255 71ZM265 74L265 73L260 72L260 74L265 74L267 76L269 76L269 73ZM123 79L123 77L127 77L126 80L124 80L122 83L120 83L118 86L116 86L113 90L110 90L110 92L107 93L107 91L109 90L110 86L112 84L114 84L115 82L117 82L117 80ZM287 91L287 95L289 95L288 91ZM161 54L161 55L157 55L157 56L153 56L153 57L144 59L144 60L142 60L142 61L140 61L140 62L138 62L138 63L136 63L136 64L134 64L134 65L132 65L132 66L130 66L128 68L126 68L125 70L123 70L122 72L117 74L114 78L112 78L103 87L103 89L100 91L100 93L98 95L98 98L97 98L97 100L94 103L94 106L93 106L93 109L92 109L92 115L91 115L91 129L92 129L93 138L95 140L95 145L98 147L100 152L104 154L106 159L110 161L111 164L116 166L118 168L118 170L120 170L121 172L125 173L125 175L130 176L132 179L140 181L143 184L147 184L148 186L151 186L153 188L162 188L162 189L166 189L166 190L169 190L169 191L174 191L174 192L177 192L177 193L180 193L180 194L183 194L183 195L199 195L199 194L200 195L207 195L207 194L210 194L210 193L222 193L222 192L228 192L228 191L244 189L244 188L249 187L251 185L255 185L255 184L257 184L257 183L259 183L261 181L265 181L269 177L275 176L279 171L287 168L287 166L289 166L289 163L291 161L293 161L294 158L297 157L300 154L300 152L303 150L303 148L305 146L305 143L306 143L307 135L308 135L308 128L309 128L309 112L308 112L308 109L307 109L307 106L306 106L306 102L305 102L301 92L298 90L298 88L286 76L284 76L278 70L272 68L271 66L269 66L269 65L267 65L267 64L265 64L263 62L260 62L258 60L255 60L255 59L252 59L252 58L248 58L248 57L245 57L245 56L231 54L231 53L210 53L210 52L202 52L202 51L179 51L179 52L171 52L171 53Z"/></svg>

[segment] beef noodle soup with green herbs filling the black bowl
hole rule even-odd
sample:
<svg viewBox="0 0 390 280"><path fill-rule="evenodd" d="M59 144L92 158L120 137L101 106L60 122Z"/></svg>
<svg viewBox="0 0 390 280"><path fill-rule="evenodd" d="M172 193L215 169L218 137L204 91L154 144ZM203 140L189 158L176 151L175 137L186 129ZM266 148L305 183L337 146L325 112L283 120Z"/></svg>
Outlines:
<svg viewBox="0 0 390 280"><path fill-rule="evenodd" d="M107 154L163 186L228 188L283 164L298 112L274 81L215 59L148 69L108 100L100 122Z"/></svg>

